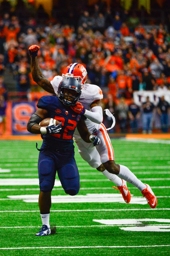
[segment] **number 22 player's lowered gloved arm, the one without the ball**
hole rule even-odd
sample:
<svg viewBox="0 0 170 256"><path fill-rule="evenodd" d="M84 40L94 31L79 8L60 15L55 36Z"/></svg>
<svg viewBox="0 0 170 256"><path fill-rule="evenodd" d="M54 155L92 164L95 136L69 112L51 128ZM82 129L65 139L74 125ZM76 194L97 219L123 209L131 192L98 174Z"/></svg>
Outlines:
<svg viewBox="0 0 170 256"><path fill-rule="evenodd" d="M83 119L80 119L80 121L78 122L77 129L78 129L80 137L83 139L83 141L85 141L87 143L93 142L94 146L97 146L100 144L100 138L95 135L92 135L88 131L86 123L84 122Z"/></svg>

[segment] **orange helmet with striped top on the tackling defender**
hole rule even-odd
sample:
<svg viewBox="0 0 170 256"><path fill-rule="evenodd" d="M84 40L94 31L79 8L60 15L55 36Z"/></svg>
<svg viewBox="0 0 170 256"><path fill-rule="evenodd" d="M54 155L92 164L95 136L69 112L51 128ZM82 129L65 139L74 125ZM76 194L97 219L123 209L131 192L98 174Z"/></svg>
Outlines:
<svg viewBox="0 0 170 256"><path fill-rule="evenodd" d="M62 77L74 77L80 84L84 84L87 80L87 71L82 64L71 63L66 67Z"/></svg>

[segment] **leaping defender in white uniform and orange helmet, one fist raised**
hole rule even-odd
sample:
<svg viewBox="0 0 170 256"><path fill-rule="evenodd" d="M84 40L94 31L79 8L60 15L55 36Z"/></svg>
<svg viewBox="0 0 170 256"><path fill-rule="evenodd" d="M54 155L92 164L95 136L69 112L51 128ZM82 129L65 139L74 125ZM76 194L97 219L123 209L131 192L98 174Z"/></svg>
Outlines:
<svg viewBox="0 0 170 256"><path fill-rule="evenodd" d="M86 84L87 71L82 64L71 63L65 69L62 76L55 76L50 82L46 79L40 70L37 63L37 52L40 47L33 45L29 47L29 55L31 56L31 73L33 80L37 82L44 90L49 93L56 93L58 91L59 82L64 77L74 77L78 79L82 84L82 93L80 96L80 104L74 106L74 111L79 114L84 114L87 117L86 125L90 133L100 138L100 145L94 147L92 143L83 142L80 138L78 131L74 133L74 139L80 155L84 160L90 164L91 167L101 171L109 180L113 181L117 185L117 189L120 190L126 203L130 202L131 195L126 186L128 183L135 185L146 197L146 200L151 208L155 208L157 205L157 199L149 185L143 184L141 180L129 170L128 167L116 164L114 161L114 152L111 144L111 140L107 133L105 126L103 125L103 110L100 106L100 100L103 98L103 94L99 86Z"/></svg>

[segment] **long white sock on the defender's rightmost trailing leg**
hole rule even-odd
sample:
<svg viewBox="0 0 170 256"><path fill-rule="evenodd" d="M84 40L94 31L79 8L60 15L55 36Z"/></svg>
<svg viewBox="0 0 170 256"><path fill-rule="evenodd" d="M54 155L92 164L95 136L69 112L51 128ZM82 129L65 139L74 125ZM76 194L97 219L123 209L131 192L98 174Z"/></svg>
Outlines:
<svg viewBox="0 0 170 256"><path fill-rule="evenodd" d="M126 180L128 183L133 184L135 187L137 187L140 191L146 188L146 185L142 183L141 180L139 180L133 172L129 170L128 167L122 166L120 164L120 172L117 175L121 179Z"/></svg>

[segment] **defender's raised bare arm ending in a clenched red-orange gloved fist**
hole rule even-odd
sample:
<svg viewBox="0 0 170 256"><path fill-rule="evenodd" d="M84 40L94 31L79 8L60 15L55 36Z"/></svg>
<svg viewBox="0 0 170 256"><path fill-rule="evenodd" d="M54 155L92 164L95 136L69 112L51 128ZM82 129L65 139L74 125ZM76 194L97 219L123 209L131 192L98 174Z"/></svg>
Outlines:
<svg viewBox="0 0 170 256"><path fill-rule="evenodd" d="M35 81L42 89L46 90L46 92L54 93L54 89L52 84L48 79L46 79L41 72L37 61L37 53L40 47L33 45L28 48L29 55L31 56L31 74L33 81Z"/></svg>

